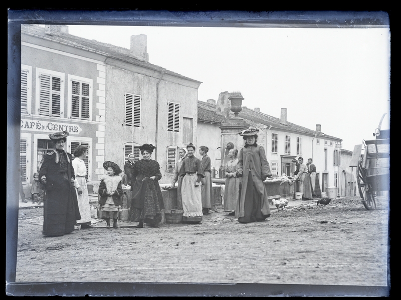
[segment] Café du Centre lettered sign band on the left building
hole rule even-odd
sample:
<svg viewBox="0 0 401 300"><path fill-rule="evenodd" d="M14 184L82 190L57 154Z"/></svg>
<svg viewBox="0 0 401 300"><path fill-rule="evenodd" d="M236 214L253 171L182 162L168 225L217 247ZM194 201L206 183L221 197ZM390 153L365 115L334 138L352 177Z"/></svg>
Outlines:
<svg viewBox="0 0 401 300"><path fill-rule="evenodd" d="M21 119L21 130L50 132L68 131L70 134L79 134L82 128L78 124Z"/></svg>

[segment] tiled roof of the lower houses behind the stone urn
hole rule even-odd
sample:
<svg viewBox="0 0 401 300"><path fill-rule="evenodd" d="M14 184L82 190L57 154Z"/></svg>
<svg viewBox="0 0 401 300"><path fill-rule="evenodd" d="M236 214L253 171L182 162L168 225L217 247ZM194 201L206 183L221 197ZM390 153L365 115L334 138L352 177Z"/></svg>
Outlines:
<svg viewBox="0 0 401 300"><path fill-rule="evenodd" d="M242 111L238 114L239 117L244 118L244 121L253 121L256 123L260 123L266 126L272 126L273 128L277 129L283 129L283 130L288 130L288 131L295 131L299 133L305 133L305 134L310 134L310 135L317 135L320 138L327 138L327 139L335 139L335 140L341 140L340 138L330 136L327 134L324 134L319 131L311 130L306 127L299 126L297 124L288 122L286 125L280 123L280 119L266 115L261 112L254 111L252 109L243 107ZM214 123L224 123L227 121L227 119L224 116L217 115L216 114L216 105L207 103L207 102L202 102L198 101L198 120L199 121L207 121L207 122L214 122ZM218 120L218 121L216 121Z"/></svg>

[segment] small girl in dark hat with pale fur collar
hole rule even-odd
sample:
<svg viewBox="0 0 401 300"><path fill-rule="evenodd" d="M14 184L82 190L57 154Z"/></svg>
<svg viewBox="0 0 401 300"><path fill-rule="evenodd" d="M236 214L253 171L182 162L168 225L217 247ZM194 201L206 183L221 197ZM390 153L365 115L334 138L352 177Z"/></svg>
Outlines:
<svg viewBox="0 0 401 300"><path fill-rule="evenodd" d="M113 219L113 228L120 228L117 224L118 212L121 211L122 205L122 172L120 167L112 162L105 161L103 168L107 170L99 184L99 210L102 211L102 216L106 220L106 228L110 228L110 218Z"/></svg>

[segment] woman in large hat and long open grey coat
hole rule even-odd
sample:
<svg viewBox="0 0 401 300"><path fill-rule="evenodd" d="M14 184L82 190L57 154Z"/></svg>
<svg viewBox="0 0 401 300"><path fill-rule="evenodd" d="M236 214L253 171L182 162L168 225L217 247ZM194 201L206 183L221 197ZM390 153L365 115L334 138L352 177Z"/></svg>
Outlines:
<svg viewBox="0 0 401 300"><path fill-rule="evenodd" d="M235 210L241 223L263 221L270 216L267 191L263 181L272 176L265 149L258 145L259 129L249 127L239 132L246 141L238 156L237 177L242 177L242 188Z"/></svg>

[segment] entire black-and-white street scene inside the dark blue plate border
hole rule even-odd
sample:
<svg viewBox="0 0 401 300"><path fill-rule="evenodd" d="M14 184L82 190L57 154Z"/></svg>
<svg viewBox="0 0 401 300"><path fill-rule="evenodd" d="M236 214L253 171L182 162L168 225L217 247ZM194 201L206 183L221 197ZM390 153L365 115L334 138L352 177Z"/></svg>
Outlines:
<svg viewBox="0 0 401 300"><path fill-rule="evenodd" d="M387 290L388 20L224 22L21 25L16 283Z"/></svg>

